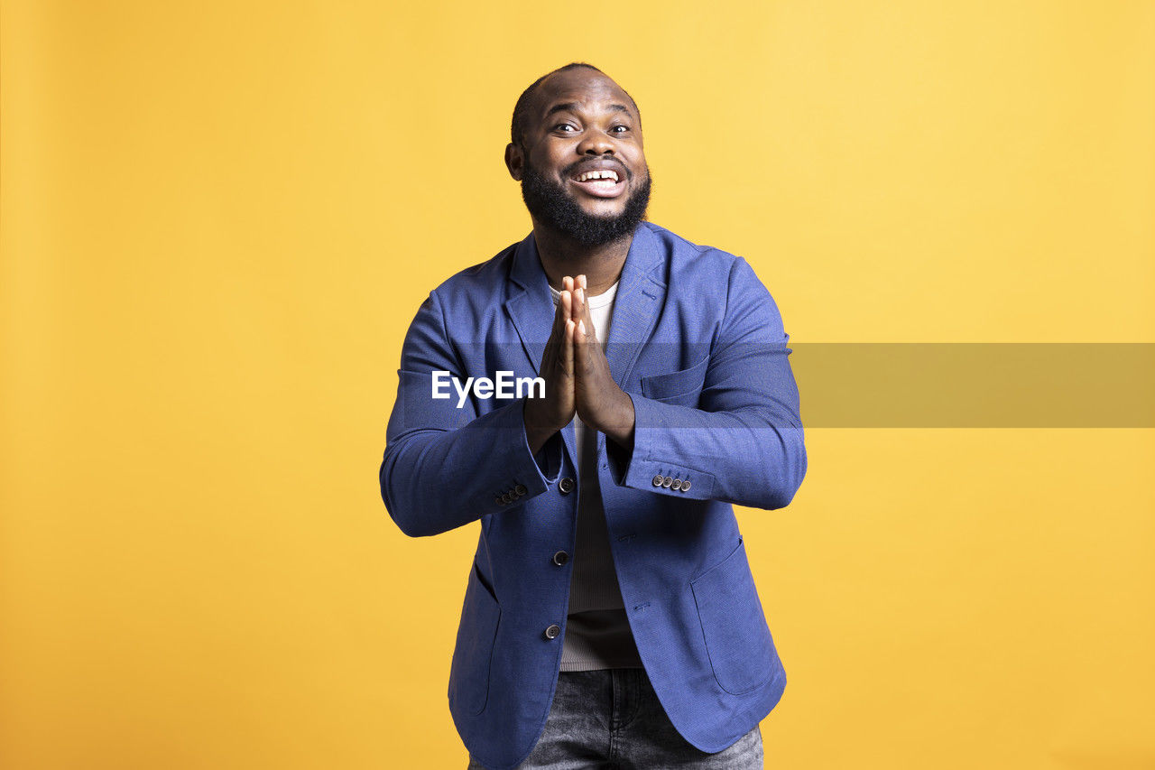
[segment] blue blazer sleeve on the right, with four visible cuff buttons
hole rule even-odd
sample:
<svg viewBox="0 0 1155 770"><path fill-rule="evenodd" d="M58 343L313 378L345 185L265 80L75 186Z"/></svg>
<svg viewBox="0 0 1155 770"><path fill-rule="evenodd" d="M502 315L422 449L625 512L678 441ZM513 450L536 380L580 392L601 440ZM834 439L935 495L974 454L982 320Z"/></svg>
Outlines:
<svg viewBox="0 0 1155 770"><path fill-rule="evenodd" d="M696 407L628 392L634 442L628 452L609 452L613 480L661 495L789 504L806 473L806 447L788 339L769 291L738 258Z"/></svg>

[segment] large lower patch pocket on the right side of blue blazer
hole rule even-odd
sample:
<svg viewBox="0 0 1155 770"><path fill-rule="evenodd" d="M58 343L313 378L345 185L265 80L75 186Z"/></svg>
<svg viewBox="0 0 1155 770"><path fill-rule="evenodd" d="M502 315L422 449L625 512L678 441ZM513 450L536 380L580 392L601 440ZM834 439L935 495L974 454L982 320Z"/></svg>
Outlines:
<svg viewBox="0 0 1155 770"><path fill-rule="evenodd" d="M714 678L726 693L755 690L774 673L774 641L742 536L722 562L690 582Z"/></svg>

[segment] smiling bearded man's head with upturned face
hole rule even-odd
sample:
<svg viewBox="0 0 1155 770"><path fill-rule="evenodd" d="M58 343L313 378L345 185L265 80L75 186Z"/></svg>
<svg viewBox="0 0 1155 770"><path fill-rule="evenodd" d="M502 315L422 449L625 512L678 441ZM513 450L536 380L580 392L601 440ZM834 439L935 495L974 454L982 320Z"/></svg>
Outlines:
<svg viewBox="0 0 1155 770"><path fill-rule="evenodd" d="M586 245L633 232L649 203L650 175L629 96L587 68L542 82L523 143L506 149L535 222Z"/></svg>

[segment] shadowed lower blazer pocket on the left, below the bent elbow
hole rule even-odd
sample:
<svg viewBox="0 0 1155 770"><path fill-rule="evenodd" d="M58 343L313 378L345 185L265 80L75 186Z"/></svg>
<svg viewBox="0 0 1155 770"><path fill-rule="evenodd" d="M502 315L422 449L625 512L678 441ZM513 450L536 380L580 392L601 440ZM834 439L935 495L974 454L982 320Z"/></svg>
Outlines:
<svg viewBox="0 0 1155 770"><path fill-rule="evenodd" d="M485 710L490 694L490 660L500 619L501 607L482 583L475 563L465 586L465 602L449 667L449 705L463 715Z"/></svg>

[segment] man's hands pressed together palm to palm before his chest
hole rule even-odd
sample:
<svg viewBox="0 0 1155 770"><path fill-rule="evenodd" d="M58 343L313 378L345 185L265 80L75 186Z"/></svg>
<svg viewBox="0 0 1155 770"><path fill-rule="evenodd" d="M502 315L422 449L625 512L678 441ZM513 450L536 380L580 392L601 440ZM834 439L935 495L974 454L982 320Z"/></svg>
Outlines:
<svg viewBox="0 0 1155 770"><path fill-rule="evenodd" d="M535 454L549 438L581 421L629 446L634 431L634 402L610 373L605 351L589 314L586 276L561 279L561 298L542 355L538 375L545 380L545 398L526 399L526 438Z"/></svg>

